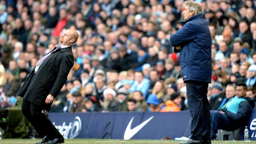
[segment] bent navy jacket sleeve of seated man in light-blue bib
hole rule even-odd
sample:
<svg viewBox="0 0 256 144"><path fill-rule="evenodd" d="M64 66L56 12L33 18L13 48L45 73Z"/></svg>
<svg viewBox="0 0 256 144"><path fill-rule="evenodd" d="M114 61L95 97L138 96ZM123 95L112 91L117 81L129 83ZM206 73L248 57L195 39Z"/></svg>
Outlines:
<svg viewBox="0 0 256 144"><path fill-rule="evenodd" d="M237 123L242 123L246 120L251 114L251 105L248 101L240 102L239 109L237 114L234 114L230 111L226 112L228 118L232 121L236 121Z"/></svg>

